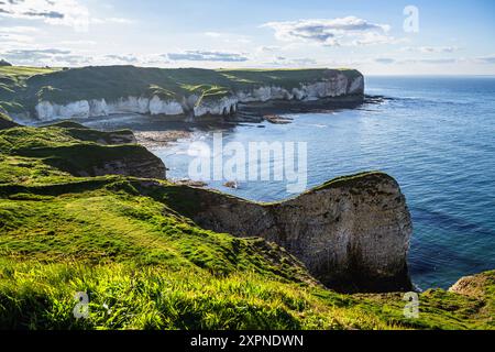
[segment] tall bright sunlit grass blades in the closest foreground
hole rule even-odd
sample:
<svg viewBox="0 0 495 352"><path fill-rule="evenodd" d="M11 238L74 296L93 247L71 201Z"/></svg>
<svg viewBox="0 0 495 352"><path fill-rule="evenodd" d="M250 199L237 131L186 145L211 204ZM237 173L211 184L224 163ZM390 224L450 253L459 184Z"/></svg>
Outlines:
<svg viewBox="0 0 495 352"><path fill-rule="evenodd" d="M122 264L3 265L0 327L16 329L343 329L341 311L293 284ZM200 276L200 279L198 279ZM76 320L75 293L89 293ZM6 297L16 297L16 300ZM3 298L3 299L2 299ZM37 315L30 314L36 311ZM375 323L371 321L371 323ZM378 322L380 324L380 322Z"/></svg>

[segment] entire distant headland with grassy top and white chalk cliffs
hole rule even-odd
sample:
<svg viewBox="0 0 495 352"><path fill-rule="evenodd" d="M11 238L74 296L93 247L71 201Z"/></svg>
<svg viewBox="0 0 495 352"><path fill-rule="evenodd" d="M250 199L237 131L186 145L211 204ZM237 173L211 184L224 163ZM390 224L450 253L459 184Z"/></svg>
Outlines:
<svg viewBox="0 0 495 352"><path fill-rule="evenodd" d="M12 84L0 91L0 108L28 123L119 113L230 117L245 103L361 101L364 95L364 77L354 69L105 66L24 77L22 85L13 84L16 76L4 79Z"/></svg>

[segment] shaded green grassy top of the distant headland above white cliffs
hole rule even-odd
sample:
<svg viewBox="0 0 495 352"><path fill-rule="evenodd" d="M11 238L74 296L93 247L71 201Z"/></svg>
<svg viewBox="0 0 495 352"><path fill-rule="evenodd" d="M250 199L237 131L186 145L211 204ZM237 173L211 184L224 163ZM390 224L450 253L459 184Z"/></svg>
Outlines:
<svg viewBox="0 0 495 352"><path fill-rule="evenodd" d="M232 91L275 85L299 87L322 79L327 69L210 70L199 68L142 68L134 66L84 67L69 70L0 67L0 106L10 112L31 110L37 101L67 103L81 99L116 100L157 95L182 99L197 94L221 98ZM349 77L359 72L341 69Z"/></svg>

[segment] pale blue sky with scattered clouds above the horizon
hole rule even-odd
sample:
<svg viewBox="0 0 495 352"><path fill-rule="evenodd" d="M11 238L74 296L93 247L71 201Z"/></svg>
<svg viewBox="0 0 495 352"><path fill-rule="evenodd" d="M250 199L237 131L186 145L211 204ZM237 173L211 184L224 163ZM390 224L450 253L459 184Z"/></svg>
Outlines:
<svg viewBox="0 0 495 352"><path fill-rule="evenodd" d="M495 75L494 14L492 0L0 0L0 58Z"/></svg>

